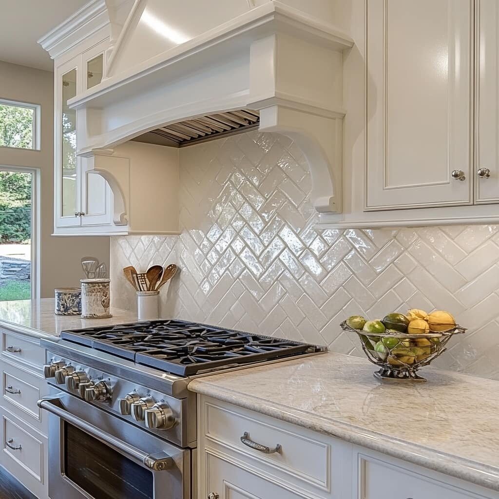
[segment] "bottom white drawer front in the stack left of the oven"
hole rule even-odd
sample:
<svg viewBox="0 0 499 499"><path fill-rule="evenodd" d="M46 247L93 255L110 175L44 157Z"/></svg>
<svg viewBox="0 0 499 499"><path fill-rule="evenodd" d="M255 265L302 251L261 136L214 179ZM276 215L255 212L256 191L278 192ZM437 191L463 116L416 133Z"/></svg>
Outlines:
<svg viewBox="0 0 499 499"><path fill-rule="evenodd" d="M37 482L43 481L43 442L42 437L37 438L35 432L27 432L20 425L14 422L8 415L2 415L2 455L3 463L9 470L19 466ZM21 483L24 483L19 477L19 471L14 472Z"/></svg>

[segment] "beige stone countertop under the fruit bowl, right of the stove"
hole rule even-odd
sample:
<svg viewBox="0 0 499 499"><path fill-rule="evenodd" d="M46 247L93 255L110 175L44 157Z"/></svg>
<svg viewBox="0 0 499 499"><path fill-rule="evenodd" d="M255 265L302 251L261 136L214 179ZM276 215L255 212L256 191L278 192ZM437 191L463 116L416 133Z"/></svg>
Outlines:
<svg viewBox="0 0 499 499"><path fill-rule="evenodd" d="M327 353L201 377L189 389L499 491L499 382L425 368L381 383Z"/></svg>

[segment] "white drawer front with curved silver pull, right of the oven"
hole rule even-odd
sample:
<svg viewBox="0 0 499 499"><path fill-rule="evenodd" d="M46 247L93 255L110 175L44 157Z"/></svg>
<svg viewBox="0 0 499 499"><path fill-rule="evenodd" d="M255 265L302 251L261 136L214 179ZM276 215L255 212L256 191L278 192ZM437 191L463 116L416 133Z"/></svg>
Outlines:
<svg viewBox="0 0 499 499"><path fill-rule="evenodd" d="M269 476L280 472L282 477L300 480L305 488L314 486L329 492L331 446L327 439L320 442L318 435L289 426L240 408L205 403L204 428L208 441L236 451L242 459L250 458L253 467L267 470ZM260 445L270 450L279 445L280 449L266 454L256 448ZM284 477L282 482L289 480Z"/></svg>

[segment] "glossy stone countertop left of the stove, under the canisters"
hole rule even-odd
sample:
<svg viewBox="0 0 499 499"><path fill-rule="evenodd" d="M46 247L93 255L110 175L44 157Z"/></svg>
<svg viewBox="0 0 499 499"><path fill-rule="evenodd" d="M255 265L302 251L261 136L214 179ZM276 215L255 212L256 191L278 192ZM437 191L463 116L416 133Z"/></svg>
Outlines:
<svg viewBox="0 0 499 499"><path fill-rule="evenodd" d="M54 315L54 298L0 301L0 325L35 337L59 336L63 329L106 326L137 321L137 313L110 308L108 319L82 319L79 315Z"/></svg>

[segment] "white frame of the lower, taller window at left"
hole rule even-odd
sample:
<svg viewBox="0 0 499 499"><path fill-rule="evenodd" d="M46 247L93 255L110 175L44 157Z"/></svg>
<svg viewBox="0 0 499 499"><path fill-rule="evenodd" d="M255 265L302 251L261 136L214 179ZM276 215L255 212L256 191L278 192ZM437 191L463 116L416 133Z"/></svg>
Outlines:
<svg viewBox="0 0 499 499"><path fill-rule="evenodd" d="M11 166L11 165L0 165L0 171L31 174L31 299L36 300L40 298L40 285L41 285L40 282L41 171L39 168Z"/></svg>

